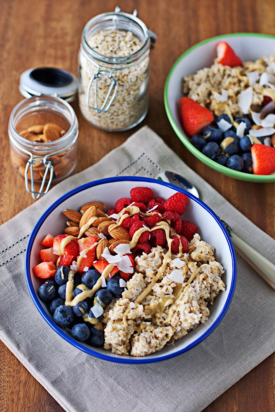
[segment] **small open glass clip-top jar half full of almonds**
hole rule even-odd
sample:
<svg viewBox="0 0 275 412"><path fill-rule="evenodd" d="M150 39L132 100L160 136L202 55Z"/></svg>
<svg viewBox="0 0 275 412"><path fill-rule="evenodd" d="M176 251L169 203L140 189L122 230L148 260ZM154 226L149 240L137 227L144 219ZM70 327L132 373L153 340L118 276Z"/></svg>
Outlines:
<svg viewBox="0 0 275 412"><path fill-rule="evenodd" d="M21 101L12 110L8 133L12 164L25 177L34 199L75 168L78 120L61 98L35 96ZM34 183L41 183L40 190L35 191Z"/></svg>

